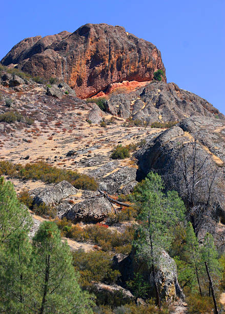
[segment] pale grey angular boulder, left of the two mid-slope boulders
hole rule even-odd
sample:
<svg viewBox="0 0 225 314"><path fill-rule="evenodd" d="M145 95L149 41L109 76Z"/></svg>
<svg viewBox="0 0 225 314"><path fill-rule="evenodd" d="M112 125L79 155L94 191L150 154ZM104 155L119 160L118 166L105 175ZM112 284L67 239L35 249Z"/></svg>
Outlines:
<svg viewBox="0 0 225 314"><path fill-rule="evenodd" d="M62 199L67 198L69 195L77 193L77 189L73 187L69 182L62 181L54 186L46 187L40 191L33 200L33 205L40 205L45 203L46 205L55 205Z"/></svg>

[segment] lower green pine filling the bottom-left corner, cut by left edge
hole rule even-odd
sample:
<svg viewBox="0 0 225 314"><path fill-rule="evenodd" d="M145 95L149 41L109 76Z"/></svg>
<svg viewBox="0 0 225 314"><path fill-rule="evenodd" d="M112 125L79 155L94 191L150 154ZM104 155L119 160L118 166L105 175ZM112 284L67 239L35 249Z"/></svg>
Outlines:
<svg viewBox="0 0 225 314"><path fill-rule="evenodd" d="M0 249L0 309L7 313L30 312L28 296L33 273L27 232L17 230Z"/></svg>

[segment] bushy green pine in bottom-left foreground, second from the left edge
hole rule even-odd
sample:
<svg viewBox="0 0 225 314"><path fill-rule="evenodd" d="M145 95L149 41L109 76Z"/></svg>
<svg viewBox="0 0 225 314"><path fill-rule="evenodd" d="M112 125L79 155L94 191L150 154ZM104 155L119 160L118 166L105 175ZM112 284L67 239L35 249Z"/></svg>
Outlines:
<svg viewBox="0 0 225 314"><path fill-rule="evenodd" d="M81 291L67 243L55 223L44 222L33 238L34 285L30 304L36 312L92 313L88 293Z"/></svg>

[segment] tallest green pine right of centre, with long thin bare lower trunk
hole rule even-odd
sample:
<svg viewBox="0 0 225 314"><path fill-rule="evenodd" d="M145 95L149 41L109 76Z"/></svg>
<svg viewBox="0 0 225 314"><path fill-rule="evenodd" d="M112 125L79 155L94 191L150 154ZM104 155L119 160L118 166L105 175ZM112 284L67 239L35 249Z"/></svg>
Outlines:
<svg viewBox="0 0 225 314"><path fill-rule="evenodd" d="M139 211L140 222L139 239L136 241L137 251L140 256L149 256L157 304L160 306L155 279L158 248L169 249L172 240L170 230L183 219L185 207L176 192L163 193L163 183L157 173L149 173L147 178L135 187L133 200Z"/></svg>

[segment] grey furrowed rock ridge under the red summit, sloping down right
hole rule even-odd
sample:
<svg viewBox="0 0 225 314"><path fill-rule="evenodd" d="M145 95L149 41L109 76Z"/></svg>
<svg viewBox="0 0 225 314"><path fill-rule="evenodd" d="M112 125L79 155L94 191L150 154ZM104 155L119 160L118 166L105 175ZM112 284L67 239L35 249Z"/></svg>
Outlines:
<svg viewBox="0 0 225 314"><path fill-rule="evenodd" d="M180 121L199 115L225 119L209 102L176 84L152 82L135 92L112 95L106 103L106 111L133 120L153 122Z"/></svg>

